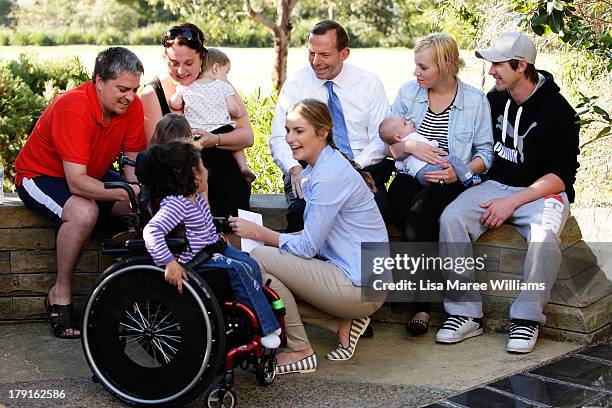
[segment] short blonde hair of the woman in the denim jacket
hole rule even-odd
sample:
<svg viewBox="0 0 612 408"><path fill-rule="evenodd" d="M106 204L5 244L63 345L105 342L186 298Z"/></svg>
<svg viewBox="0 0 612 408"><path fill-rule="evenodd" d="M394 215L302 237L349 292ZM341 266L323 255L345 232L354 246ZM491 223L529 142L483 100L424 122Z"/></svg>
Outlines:
<svg viewBox="0 0 612 408"><path fill-rule="evenodd" d="M431 33L417 41L414 46L414 53L431 48L434 64L440 71L442 78L455 78L459 74L459 69L465 66L463 59L459 57L459 47L457 41L445 33Z"/></svg>

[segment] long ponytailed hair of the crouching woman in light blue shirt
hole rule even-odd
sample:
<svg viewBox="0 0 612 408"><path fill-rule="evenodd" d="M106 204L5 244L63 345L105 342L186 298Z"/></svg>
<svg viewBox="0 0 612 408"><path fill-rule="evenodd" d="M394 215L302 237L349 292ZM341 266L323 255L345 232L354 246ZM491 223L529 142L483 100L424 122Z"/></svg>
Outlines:
<svg viewBox="0 0 612 408"><path fill-rule="evenodd" d="M374 183L374 179L372 179L370 173L363 171L354 160L351 160L350 157L336 147L336 143L334 142L334 126L332 117L326 104L316 99L304 99L293 105L289 109L289 112L295 112L304 118L306 122L308 122L314 128L317 134L327 132L325 142L331 146L332 149L338 150L361 175L368 188L372 192L376 192L376 183Z"/></svg>

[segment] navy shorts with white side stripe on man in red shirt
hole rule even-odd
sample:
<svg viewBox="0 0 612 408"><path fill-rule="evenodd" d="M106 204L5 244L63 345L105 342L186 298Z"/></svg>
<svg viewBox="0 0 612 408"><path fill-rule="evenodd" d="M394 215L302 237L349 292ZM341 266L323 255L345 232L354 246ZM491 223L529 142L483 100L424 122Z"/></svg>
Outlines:
<svg viewBox="0 0 612 408"><path fill-rule="evenodd" d="M123 180L119 172L109 170L100 181ZM62 224L64 205L66 205L66 201L72 196L66 179L51 176L38 176L31 179L23 178L21 185L17 186L17 194L26 207L49 217L58 227ZM96 204L99 209L98 223L101 220L110 219L115 201L96 200Z"/></svg>

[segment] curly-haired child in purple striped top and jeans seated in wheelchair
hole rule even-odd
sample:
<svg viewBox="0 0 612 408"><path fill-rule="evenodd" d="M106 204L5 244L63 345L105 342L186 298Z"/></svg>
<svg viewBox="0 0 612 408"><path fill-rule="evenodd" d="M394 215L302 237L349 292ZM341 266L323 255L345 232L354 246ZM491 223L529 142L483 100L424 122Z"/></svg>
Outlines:
<svg viewBox="0 0 612 408"><path fill-rule="evenodd" d="M143 161L138 175L141 183L152 200L161 200L159 210L143 230L143 238L155 263L165 267L166 281L182 293L182 281L188 279L182 265L189 264L204 274L206 269L226 270L236 300L251 307L259 319L261 344L277 348L281 329L263 292L257 262L217 234L208 203L200 195L206 190L207 171L198 149L177 141L154 144L139 160ZM180 223L185 228L187 246L176 259L165 237Z"/></svg>

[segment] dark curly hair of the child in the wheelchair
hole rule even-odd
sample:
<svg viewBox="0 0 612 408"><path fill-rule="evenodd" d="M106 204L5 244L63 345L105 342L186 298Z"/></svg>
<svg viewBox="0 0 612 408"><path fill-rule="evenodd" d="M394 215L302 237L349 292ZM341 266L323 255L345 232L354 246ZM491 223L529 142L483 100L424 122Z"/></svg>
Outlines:
<svg viewBox="0 0 612 408"><path fill-rule="evenodd" d="M149 188L152 199L169 195L189 196L198 189L196 170L200 166L200 152L191 143L169 142L152 145L140 160L137 176Z"/></svg>

